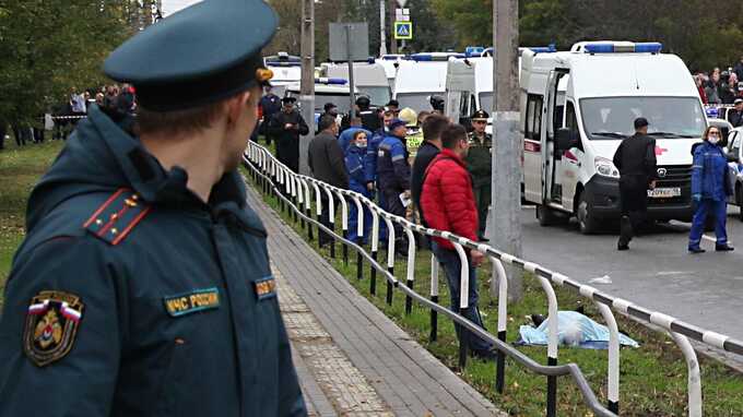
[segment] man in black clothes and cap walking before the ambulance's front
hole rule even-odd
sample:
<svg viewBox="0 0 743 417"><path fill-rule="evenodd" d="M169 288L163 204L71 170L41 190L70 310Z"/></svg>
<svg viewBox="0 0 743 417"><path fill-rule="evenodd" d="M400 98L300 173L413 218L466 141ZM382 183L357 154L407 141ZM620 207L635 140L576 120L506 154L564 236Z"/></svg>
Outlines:
<svg viewBox="0 0 743 417"><path fill-rule="evenodd" d="M656 140L648 136L648 120L635 119L635 134L625 139L614 154L620 170L622 219L616 249L629 249L634 231L648 212L648 189L656 187Z"/></svg>

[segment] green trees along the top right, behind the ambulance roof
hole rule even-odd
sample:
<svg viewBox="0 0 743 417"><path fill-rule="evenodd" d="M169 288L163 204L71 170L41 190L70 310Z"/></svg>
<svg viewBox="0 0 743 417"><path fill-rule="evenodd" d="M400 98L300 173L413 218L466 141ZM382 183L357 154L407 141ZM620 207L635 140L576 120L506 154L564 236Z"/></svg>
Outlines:
<svg viewBox="0 0 743 417"><path fill-rule="evenodd" d="M451 24L459 49L492 45L492 4L433 0L435 13ZM580 40L658 40L691 70L733 64L743 50L743 15L703 0L521 0L519 32L519 45L555 43L561 49Z"/></svg>

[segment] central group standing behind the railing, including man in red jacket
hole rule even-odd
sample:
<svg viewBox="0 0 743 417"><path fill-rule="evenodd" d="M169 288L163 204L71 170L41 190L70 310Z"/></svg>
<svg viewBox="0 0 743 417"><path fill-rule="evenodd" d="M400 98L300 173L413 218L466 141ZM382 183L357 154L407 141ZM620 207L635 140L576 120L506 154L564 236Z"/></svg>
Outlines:
<svg viewBox="0 0 743 417"><path fill-rule="evenodd" d="M275 105L279 102L281 106ZM297 171L299 136L309 130L294 102L292 97L279 99L269 90L261 102L263 122L258 131L266 135L267 143L275 142L278 158ZM491 201L493 146L491 135L485 133L487 112L479 110L472 115L473 131L468 133L436 107L418 114L411 108L401 109L398 102L390 100L377 110L362 96L356 100L356 110L354 117L341 118L332 103L323 106L307 155L316 179L361 193L388 213L409 221L475 241L487 240L485 221ZM321 193L320 198L320 222L332 229L328 196ZM371 213L363 207L363 228L358 230L358 208L353 200L346 204L347 238L359 245L368 243ZM386 246L388 233L392 233L396 251L406 255L409 241L402 227L393 223L394 229L388 231L385 222L379 226L379 243ZM320 246L331 241L332 237L320 230ZM455 248L448 240L437 238L420 239L415 245L431 248L446 272L451 309L482 325L476 267L484 259L483 253L468 251L470 307L460 311L461 261ZM457 327L459 337L461 332ZM476 357L493 357L493 346L479 337L468 337L468 345Z"/></svg>

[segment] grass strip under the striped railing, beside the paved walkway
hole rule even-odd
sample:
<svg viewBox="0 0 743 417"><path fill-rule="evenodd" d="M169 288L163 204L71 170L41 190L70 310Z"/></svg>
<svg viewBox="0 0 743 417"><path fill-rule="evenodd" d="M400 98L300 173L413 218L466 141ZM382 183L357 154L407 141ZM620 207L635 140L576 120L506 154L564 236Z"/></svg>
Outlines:
<svg viewBox="0 0 743 417"><path fill-rule="evenodd" d="M255 184L257 190L260 188ZM307 240L307 234L299 223L279 210L279 200L272 195L262 195L282 219ZM340 225L340 217L335 224ZM398 325L405 330L421 345L427 348L447 367L455 370L468 383L474 386L500 409L514 416L543 416L546 407L546 378L531 373L526 368L507 359L506 389L503 394L495 391L495 364L480 360L468 360L464 369L458 368L458 342L451 321L439 317L438 341L429 341L429 311L421 306L413 307L411 314L405 314L404 296L396 293L392 306L385 301L385 284L377 283L377 295L369 293L369 270L364 267L364 279L356 279L355 253L350 255L345 265L337 248L337 258L331 259L328 248L319 248L317 239L308 243L319 252L333 267L377 308L384 311ZM369 250L367 248L367 250ZM380 251L381 252L381 251ZM380 260L386 254L380 253ZM385 264L385 262L380 262ZM396 260L394 271L399 279L404 279L405 260ZM422 295L429 294L431 252L417 251L415 260L415 290ZM480 285L480 306L483 311L485 326L495 333L497 322L497 299L490 295L491 265L485 264L477 272ZM448 305L449 293L444 272L439 272L439 299ZM401 281L402 283L402 281ZM534 276L524 276L524 296L519 303L508 306L509 343L518 338L521 324L527 324L529 314L547 314L547 299ZM587 315L603 323L599 310L592 301L587 300L565 288L555 287L558 306L562 310L574 310L583 306ZM681 350L670 336L653 332L648 327L616 314L620 331L629 335L640 344L639 348L622 348L621 350L621 392L620 412L622 416L680 416L687 413L687 372L686 362ZM523 352L540 364L546 365L546 347L521 346ZM597 396L606 403L608 350L591 350L573 347L559 348L561 364L575 362L582 370ZM707 416L743 415L743 376L729 369L716 360L700 358L704 412ZM558 380L557 410L561 416L591 416L592 413L582 404L579 390L568 377Z"/></svg>

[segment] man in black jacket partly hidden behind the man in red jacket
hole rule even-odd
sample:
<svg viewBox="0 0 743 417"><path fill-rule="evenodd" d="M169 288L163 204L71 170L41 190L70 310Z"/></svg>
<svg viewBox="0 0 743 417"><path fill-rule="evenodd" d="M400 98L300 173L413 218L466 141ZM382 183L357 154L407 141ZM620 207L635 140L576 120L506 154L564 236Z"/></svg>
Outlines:
<svg viewBox="0 0 743 417"><path fill-rule="evenodd" d="M423 122L423 144L415 154L413 169L410 176L410 193L413 198L413 206L418 212L421 223L424 225L425 217L421 211L421 191L426 168L441 152L441 132L449 126L449 119L443 115L431 115Z"/></svg>

